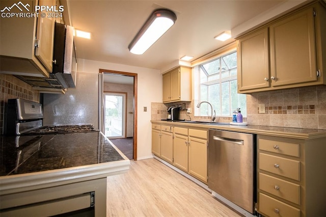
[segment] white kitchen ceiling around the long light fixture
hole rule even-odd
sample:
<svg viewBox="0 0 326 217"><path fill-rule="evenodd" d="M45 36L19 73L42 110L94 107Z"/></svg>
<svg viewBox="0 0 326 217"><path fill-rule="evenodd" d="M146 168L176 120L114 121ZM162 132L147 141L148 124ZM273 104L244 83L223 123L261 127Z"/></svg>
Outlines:
<svg viewBox="0 0 326 217"><path fill-rule="evenodd" d="M254 23L256 17L269 15L271 10L288 2L299 1L70 0L68 23L75 29L91 32L91 40L75 38L77 58L161 70L184 55L197 59L231 43L234 39L220 42L214 36L241 30L239 26ZM175 24L143 55L130 53L129 43L158 8L174 11Z"/></svg>

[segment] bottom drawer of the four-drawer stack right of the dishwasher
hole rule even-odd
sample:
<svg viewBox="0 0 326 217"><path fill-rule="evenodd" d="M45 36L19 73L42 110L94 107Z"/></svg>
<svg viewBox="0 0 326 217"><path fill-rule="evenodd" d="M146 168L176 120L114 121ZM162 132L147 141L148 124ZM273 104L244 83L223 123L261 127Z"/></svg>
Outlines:
<svg viewBox="0 0 326 217"><path fill-rule="evenodd" d="M300 209L259 193L259 211L270 217L300 216Z"/></svg>

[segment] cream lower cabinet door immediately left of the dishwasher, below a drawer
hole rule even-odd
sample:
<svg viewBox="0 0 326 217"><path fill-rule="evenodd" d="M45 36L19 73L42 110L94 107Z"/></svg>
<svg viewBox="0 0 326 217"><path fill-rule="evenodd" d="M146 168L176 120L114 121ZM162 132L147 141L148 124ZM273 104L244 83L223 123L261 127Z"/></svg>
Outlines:
<svg viewBox="0 0 326 217"><path fill-rule="evenodd" d="M207 183L207 140L189 137L189 174Z"/></svg>

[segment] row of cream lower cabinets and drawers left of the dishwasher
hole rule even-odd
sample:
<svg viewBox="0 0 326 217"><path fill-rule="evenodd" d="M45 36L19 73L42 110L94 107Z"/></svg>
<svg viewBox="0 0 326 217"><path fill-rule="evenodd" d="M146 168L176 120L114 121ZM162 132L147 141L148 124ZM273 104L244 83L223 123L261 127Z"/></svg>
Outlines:
<svg viewBox="0 0 326 217"><path fill-rule="evenodd" d="M152 153L207 184L207 130L152 124Z"/></svg>

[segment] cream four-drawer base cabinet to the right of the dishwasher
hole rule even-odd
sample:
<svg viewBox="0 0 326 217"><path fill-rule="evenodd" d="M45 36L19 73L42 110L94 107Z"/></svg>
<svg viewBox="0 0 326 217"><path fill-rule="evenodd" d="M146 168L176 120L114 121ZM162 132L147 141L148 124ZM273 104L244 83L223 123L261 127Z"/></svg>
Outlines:
<svg viewBox="0 0 326 217"><path fill-rule="evenodd" d="M265 216L322 216L326 196L324 138L258 135L258 212Z"/></svg>

